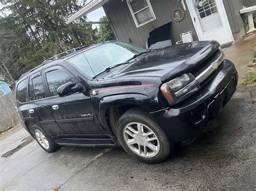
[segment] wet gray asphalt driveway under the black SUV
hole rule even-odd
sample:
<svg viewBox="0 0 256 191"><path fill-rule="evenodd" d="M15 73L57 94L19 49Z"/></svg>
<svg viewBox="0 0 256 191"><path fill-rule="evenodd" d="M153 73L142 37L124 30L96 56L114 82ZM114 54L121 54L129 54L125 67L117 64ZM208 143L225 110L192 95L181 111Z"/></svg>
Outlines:
<svg viewBox="0 0 256 191"><path fill-rule="evenodd" d="M155 165L133 160L121 147L62 147L46 153L19 128L0 137L1 155L16 148L0 158L0 189L255 190L255 111L253 103L228 103L196 142L177 146Z"/></svg>

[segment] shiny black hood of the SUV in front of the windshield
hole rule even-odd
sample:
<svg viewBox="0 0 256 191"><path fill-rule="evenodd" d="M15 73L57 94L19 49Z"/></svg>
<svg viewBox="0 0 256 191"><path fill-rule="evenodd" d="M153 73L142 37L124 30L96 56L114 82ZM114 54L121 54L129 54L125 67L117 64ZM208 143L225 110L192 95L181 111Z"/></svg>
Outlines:
<svg viewBox="0 0 256 191"><path fill-rule="evenodd" d="M216 41L196 41L157 49L144 53L129 65L110 70L98 80L117 77L158 76L161 81L182 75L197 67L210 57L219 47Z"/></svg>

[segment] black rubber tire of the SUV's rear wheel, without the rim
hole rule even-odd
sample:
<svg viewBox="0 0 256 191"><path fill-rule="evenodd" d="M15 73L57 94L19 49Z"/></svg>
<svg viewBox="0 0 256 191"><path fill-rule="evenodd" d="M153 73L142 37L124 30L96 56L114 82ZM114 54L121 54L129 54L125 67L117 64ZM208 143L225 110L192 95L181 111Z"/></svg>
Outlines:
<svg viewBox="0 0 256 191"><path fill-rule="evenodd" d="M38 129L39 131L41 131L42 133L44 133L44 136L45 136L46 139L48 140L48 143L49 143L49 148L48 148L48 149L44 148L44 147L38 142L38 140L37 140L37 138L36 138L36 135L35 135L35 131L36 131L37 129ZM33 133L33 136L35 137L36 142L38 143L38 145L40 145L40 146L43 148L43 150L45 150L46 152L52 153L52 152L56 151L56 150L59 148L59 145L57 145L57 144L55 143L55 141L53 140L53 138L52 138L51 136L49 136L39 125L36 125L36 124L35 124L35 125L32 126L32 133Z"/></svg>

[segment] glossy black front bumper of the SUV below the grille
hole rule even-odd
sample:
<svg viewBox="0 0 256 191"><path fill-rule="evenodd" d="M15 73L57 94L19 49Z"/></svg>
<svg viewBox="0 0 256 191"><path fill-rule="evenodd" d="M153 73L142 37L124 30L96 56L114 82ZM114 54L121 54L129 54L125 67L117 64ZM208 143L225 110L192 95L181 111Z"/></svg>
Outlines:
<svg viewBox="0 0 256 191"><path fill-rule="evenodd" d="M175 143L191 139L204 130L234 94L238 74L226 60L219 72L201 90L174 107L151 112L151 116Z"/></svg>

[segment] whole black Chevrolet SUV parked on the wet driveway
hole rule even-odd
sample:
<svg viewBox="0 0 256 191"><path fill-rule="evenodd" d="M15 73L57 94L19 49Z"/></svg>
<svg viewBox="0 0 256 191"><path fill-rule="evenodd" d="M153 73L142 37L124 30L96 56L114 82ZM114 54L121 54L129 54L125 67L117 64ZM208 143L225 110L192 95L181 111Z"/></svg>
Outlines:
<svg viewBox="0 0 256 191"><path fill-rule="evenodd" d="M120 144L153 163L198 136L237 80L216 41L149 50L115 40L44 61L15 92L24 128L45 151Z"/></svg>

